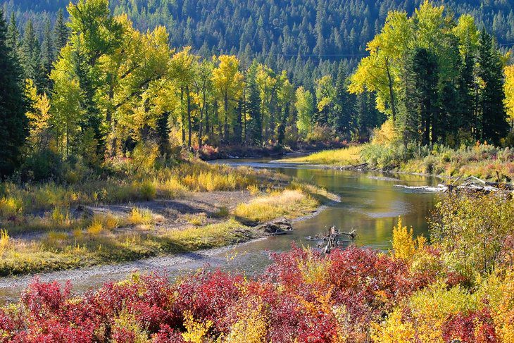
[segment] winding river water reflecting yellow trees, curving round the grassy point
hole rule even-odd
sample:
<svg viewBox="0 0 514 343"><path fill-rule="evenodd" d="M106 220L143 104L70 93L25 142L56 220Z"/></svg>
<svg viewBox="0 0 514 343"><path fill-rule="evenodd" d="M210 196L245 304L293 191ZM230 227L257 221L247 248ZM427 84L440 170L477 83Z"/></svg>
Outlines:
<svg viewBox="0 0 514 343"><path fill-rule="evenodd" d="M215 161L232 166L267 168L308 181L339 195L341 201L332 203L316 216L294 223L289 235L268 237L253 242L228 247L184 254L168 258L149 258L142 261L116 266L101 266L83 270L68 270L40 275L42 281L71 280L75 292L99 287L104 282L121 280L134 270L165 272L170 278L193 273L199 268L220 268L234 270L246 275L261 273L270 263L270 253L286 251L292 244L315 246L318 242L308 239L328 227L335 225L339 230L357 230L357 238L351 244L370 247L381 251L391 248L391 232L398 217L412 226L415 235L428 236L427 217L434 207L433 193L420 193L394 185L435 185L434 177L408 174L387 174L356 172L349 170L324 169L269 160L227 160ZM350 243L347 243L350 244ZM0 303L15 301L30 282L32 276L0 278Z"/></svg>

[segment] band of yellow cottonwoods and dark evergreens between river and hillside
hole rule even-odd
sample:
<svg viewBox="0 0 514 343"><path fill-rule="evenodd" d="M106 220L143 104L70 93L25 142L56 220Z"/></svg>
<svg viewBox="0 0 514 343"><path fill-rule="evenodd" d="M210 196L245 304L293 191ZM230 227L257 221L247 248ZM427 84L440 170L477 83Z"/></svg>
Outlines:
<svg viewBox="0 0 514 343"><path fill-rule="evenodd" d="M412 15L389 11L354 72L346 60L327 61L329 70L301 82L277 60L175 48L176 25L138 30L141 23L120 8L80 0L68 14L58 11L54 23L43 16L42 35L31 18L22 30L13 11L1 23L2 91L10 99L2 104L9 113L3 174L23 162L24 178L45 178L59 161L99 166L136 146L170 156L173 146L209 154L242 144L362 142L387 119L405 146L508 144L508 54L471 15L427 1ZM305 46L301 53L315 51ZM343 51L319 54L329 52Z"/></svg>

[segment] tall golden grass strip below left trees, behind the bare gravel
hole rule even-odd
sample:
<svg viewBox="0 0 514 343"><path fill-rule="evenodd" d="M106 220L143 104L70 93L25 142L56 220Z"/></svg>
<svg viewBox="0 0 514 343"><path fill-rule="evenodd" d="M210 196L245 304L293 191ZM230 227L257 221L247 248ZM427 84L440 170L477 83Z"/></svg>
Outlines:
<svg viewBox="0 0 514 343"><path fill-rule="evenodd" d="M2 184L0 219L77 204L120 204L158 197L184 197L187 192L212 192L246 189L256 185L249 168L212 166L203 162L184 162L173 168L149 170L133 175L115 175L104 180L90 179L73 185L47 182L37 185Z"/></svg>

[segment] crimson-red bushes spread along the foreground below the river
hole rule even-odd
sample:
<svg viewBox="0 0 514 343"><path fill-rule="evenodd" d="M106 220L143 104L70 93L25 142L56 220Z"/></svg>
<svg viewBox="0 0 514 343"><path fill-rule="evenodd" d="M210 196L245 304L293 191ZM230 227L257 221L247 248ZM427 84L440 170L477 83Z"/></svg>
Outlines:
<svg viewBox="0 0 514 343"><path fill-rule="evenodd" d="M438 263L437 251L427 254ZM371 322L380 322L416 289L433 282L440 270L411 272L408 262L356 247L335 249L329 256L292 247L272 258L267 272L254 280L219 270L175 283L166 275L134 275L76 298L70 297L69 283L61 287L35 279L17 308L0 308L0 342L134 342L141 332L157 343L184 342L186 314L200 323L211 321L209 334L218 337L229 333L249 308L267 320L267 341L333 342L339 320L347 322L349 340L359 341L366 339ZM451 273L442 276L449 285L461 281ZM120 326L124 316L141 332ZM453 316L444 335L463 342L496 342L487 311Z"/></svg>

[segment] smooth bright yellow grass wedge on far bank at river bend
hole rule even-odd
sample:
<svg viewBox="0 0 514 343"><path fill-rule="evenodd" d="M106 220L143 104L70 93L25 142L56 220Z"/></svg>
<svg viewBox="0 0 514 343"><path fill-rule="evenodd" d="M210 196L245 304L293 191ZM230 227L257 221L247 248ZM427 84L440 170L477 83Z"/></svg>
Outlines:
<svg viewBox="0 0 514 343"><path fill-rule="evenodd" d="M308 156L287 158L282 160L286 163L310 163L325 166L349 166L358 164L361 161L362 146L349 146L348 148L336 150L324 150Z"/></svg>

